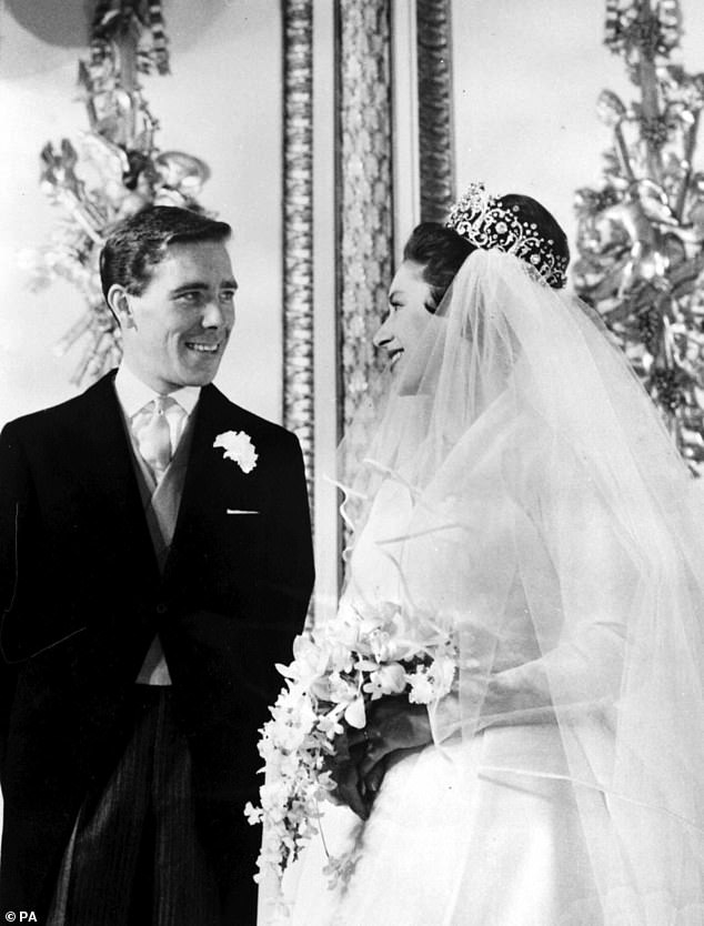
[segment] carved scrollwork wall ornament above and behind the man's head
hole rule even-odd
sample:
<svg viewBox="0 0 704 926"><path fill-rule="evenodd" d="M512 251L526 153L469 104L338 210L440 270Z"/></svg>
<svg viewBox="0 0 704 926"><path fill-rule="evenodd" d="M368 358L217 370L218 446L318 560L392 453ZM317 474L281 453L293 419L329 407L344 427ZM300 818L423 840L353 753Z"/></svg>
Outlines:
<svg viewBox="0 0 704 926"><path fill-rule="evenodd" d="M180 151L159 153L153 118L140 74L169 72L160 0L100 0L91 34L91 57L79 61L79 94L89 129L74 144L62 139L41 151L41 190L61 209L51 242L26 251L21 264L30 285L42 289L57 278L74 284L87 309L56 345L61 355L81 343L71 382L82 386L119 363L120 330L104 303L98 269L100 250L112 228L149 203L200 211L197 197L209 177L198 158Z"/></svg>

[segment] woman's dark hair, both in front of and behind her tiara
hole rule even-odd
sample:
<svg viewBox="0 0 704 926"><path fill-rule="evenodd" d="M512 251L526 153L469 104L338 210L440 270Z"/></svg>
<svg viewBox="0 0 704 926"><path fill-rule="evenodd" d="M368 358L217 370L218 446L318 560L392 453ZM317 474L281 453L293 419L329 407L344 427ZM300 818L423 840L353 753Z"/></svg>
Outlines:
<svg viewBox="0 0 704 926"><path fill-rule="evenodd" d="M557 220L544 205L541 205L537 200L524 197L521 193L496 197L494 203L500 209L511 212L521 225L534 224L535 232L544 242L543 250L547 249L550 256L559 265L566 269L570 261L567 236ZM495 235L495 238L499 240L490 246L504 250L501 246L499 235ZM466 238L459 234L454 229L441 225L439 222L421 222L413 229L403 249L403 260L413 261L413 263L423 268L423 280L430 285L433 300L433 305L428 306L430 311L438 308L455 274L466 258L475 250L476 246ZM530 253L519 254L527 263L531 263L530 255ZM555 289L564 284L553 282L552 279L547 282Z"/></svg>

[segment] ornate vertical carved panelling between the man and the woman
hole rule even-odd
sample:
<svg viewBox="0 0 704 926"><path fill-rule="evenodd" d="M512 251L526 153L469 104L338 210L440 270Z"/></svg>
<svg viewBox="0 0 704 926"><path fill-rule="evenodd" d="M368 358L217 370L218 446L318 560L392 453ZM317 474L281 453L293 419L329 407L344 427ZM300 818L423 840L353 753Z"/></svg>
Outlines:
<svg viewBox="0 0 704 926"><path fill-rule="evenodd" d="M324 523L316 525L316 534L320 540L324 533L319 552L323 550L325 563L318 564L319 588L324 586L326 597L332 598L334 580L323 574L338 566L334 499L330 486L315 481L315 459L324 461L320 465L329 472L335 423L315 396L316 351L318 363L323 364L319 375L330 391L334 365L340 436L362 400L381 382L378 373L383 361L376 356L372 335L386 311L395 240L418 218L444 218L454 198L451 0L331 0L324 9L318 0L281 2L283 421L300 437L311 503L316 493L321 504L319 517ZM323 70L330 68L326 82L321 81L321 73L313 80L314 62ZM401 70L404 77L394 85ZM321 103L323 98L326 102ZM325 122L324 128L320 121L315 127L318 148L314 112ZM330 135L334 157L328 148L321 155L320 140L328 137L329 121L334 121ZM322 165L328 157L334 164L334 189ZM330 234L321 242L313 222L315 215L326 215L328 208ZM323 225L328 230L326 219ZM315 254L314 231L319 235ZM334 293L328 282L321 284L329 279L332 286L333 275ZM324 298L319 295L315 310L316 291L324 291ZM320 332L328 333L331 320L325 313L330 311L335 312L334 345L320 338ZM320 446L315 443L316 401L322 415Z"/></svg>

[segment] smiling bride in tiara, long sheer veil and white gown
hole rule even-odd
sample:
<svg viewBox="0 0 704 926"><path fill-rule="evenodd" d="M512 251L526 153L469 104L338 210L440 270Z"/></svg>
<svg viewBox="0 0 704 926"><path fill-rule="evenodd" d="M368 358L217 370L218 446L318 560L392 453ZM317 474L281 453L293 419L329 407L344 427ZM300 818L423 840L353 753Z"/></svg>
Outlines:
<svg viewBox="0 0 704 926"><path fill-rule="evenodd" d="M325 813L292 920L701 924L704 512L625 360L560 292L550 213L473 187L447 224L411 236L375 338L395 379L375 432L348 439L341 607L432 614L457 673L338 738L352 809Z"/></svg>

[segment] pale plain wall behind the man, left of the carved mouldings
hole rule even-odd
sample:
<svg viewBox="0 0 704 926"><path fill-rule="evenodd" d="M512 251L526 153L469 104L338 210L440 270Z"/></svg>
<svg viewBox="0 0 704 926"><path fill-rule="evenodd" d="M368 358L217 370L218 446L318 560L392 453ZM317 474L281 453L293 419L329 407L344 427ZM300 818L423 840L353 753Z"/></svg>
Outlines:
<svg viewBox="0 0 704 926"><path fill-rule="evenodd" d="M31 19L18 17L27 27L11 6L32 8ZM88 129L76 85L87 52L86 7L83 0L0 6L0 423L76 392L69 376L80 352L57 358L53 345L81 314L80 298L61 282L30 293L18 252L47 243L59 215L39 189L39 151L49 140L78 141ZM219 383L241 404L279 420L279 2L165 0L164 16L172 74L144 79L161 123L158 143L210 165L201 201L234 227L238 321Z"/></svg>

